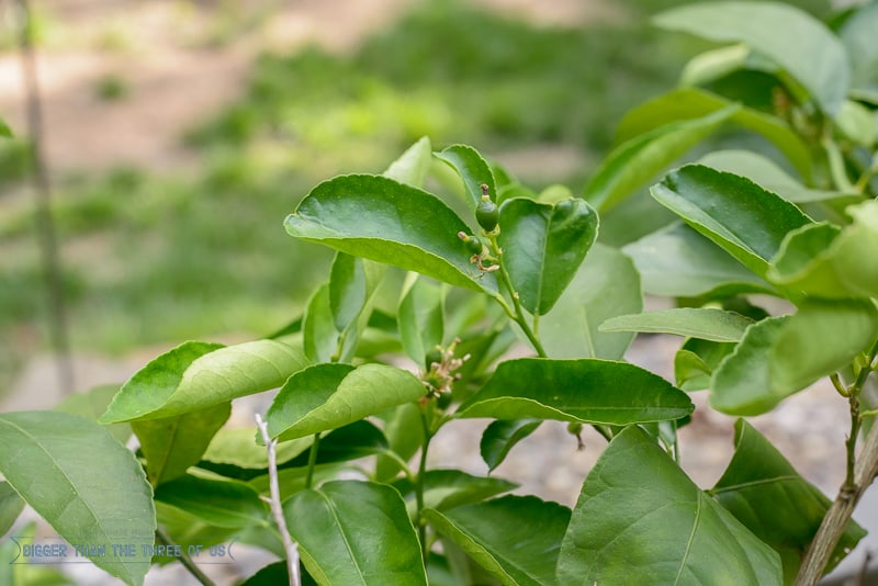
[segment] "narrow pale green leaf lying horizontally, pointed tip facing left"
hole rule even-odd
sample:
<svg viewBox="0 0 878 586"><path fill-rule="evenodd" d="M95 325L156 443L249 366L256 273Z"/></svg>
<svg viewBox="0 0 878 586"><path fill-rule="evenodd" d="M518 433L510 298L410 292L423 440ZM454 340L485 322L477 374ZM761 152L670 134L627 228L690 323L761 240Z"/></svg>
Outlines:
<svg viewBox="0 0 878 586"><path fill-rule="evenodd" d="M675 334L713 341L738 341L753 323L734 312L713 308L677 307L642 314L620 315L604 322L600 331L649 331Z"/></svg>

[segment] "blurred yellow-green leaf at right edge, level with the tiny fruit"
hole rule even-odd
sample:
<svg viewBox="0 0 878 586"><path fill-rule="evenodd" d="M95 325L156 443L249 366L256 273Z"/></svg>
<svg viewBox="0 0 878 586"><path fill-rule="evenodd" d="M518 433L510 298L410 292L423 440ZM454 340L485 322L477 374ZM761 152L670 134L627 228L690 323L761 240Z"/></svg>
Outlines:
<svg viewBox="0 0 878 586"><path fill-rule="evenodd" d="M878 249L878 202L849 206L853 224L830 224L791 232L767 278L808 295L845 298L878 296L878 259L864 250Z"/></svg>

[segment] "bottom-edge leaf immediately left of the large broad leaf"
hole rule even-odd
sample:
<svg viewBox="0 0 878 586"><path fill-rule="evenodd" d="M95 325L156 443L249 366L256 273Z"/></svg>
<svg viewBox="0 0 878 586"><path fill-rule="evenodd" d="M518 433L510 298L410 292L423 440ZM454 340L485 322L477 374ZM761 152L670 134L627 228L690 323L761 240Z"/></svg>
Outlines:
<svg viewBox="0 0 878 586"><path fill-rule="evenodd" d="M567 507L509 495L444 512L426 509L424 516L502 584L558 584L555 560L570 521Z"/></svg>

